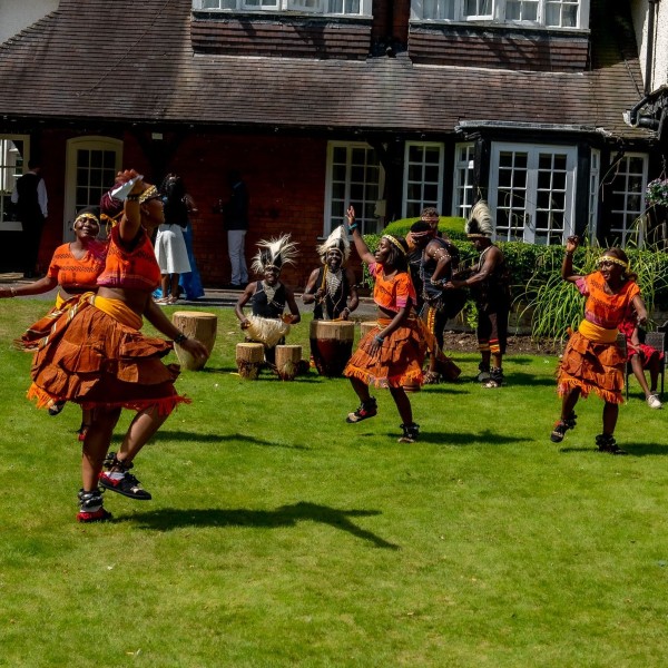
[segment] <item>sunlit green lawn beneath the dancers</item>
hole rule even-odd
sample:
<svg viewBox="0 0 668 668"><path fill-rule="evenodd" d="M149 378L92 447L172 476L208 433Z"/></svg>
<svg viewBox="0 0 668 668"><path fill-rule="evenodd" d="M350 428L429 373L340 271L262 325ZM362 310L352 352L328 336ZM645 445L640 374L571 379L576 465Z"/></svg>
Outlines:
<svg viewBox="0 0 668 668"><path fill-rule="evenodd" d="M43 310L0 310L0 666L665 665L666 412L637 385L627 458L593 451L596 397L549 441L557 360L529 355L508 387L413 395L402 445L386 391L348 425L347 381L239 379L219 311L193 404L137 460L154 500L108 493L116 521L82 527L78 409L37 411L11 347Z"/></svg>

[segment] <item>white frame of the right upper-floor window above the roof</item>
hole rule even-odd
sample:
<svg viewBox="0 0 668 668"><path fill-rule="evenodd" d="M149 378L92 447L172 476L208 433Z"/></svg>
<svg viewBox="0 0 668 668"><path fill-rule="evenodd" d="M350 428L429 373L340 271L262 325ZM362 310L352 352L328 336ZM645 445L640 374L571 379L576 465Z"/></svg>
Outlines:
<svg viewBox="0 0 668 668"><path fill-rule="evenodd" d="M571 6L577 2L578 18L576 26L548 24L548 6L556 2L566 2ZM412 22L494 22L502 24L517 24L522 27L544 28L550 30L588 30L589 29L590 0L539 0L538 17L536 20L507 19L507 0L492 0L491 14L466 14L466 0L411 0ZM425 16L430 8L434 8L435 17ZM450 16L448 16L450 14ZM560 12L562 16L562 12Z"/></svg>

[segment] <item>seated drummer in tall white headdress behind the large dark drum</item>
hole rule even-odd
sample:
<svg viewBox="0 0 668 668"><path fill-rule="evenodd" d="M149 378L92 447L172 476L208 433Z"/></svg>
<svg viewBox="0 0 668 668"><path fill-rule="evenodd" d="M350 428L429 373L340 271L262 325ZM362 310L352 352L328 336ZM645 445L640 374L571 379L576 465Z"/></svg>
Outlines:
<svg viewBox="0 0 668 668"><path fill-rule="evenodd" d="M348 320L357 308L360 297L355 274L345 266L351 256L351 244L344 226L340 225L316 250L323 266L311 273L302 301L315 303L313 320Z"/></svg>

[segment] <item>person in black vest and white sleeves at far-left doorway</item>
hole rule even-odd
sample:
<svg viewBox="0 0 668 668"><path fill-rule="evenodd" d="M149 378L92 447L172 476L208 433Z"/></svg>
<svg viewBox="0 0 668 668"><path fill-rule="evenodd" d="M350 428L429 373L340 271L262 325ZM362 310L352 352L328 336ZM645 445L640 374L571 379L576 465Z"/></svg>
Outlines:
<svg viewBox="0 0 668 668"><path fill-rule="evenodd" d="M17 207L21 222L21 264L24 278L33 278L37 273L37 256L41 244L45 223L49 215L47 187L37 160L28 161L28 171L16 183L11 202Z"/></svg>

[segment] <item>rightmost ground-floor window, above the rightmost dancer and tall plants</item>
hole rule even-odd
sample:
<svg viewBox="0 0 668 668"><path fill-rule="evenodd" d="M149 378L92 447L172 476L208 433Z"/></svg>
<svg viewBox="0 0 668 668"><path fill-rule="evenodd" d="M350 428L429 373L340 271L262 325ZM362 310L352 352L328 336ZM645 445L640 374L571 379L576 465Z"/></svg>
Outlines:
<svg viewBox="0 0 668 668"><path fill-rule="evenodd" d="M629 242L641 246L644 228L639 224L645 212L647 156L626 154L618 163L612 179L609 244L625 247Z"/></svg>

